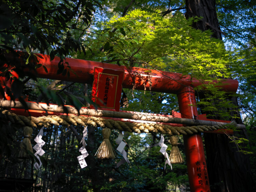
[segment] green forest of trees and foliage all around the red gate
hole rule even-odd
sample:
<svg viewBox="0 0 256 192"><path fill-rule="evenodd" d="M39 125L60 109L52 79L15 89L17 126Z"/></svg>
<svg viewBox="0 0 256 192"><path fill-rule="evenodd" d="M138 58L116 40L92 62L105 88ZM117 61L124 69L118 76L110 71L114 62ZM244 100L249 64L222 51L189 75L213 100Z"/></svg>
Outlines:
<svg viewBox="0 0 256 192"><path fill-rule="evenodd" d="M61 59L72 57L148 68L149 77L150 69L157 69L191 75L202 81L238 79L239 88L235 96L249 138L240 133L242 136L225 136L225 139L240 151L234 152L231 148L231 153L250 158L252 172L248 171L248 179L248 174L243 176L243 169L238 169L235 175L242 177L240 180L243 185L221 179L212 179L214 182L210 180L210 184L212 191L228 191L229 185L234 185L237 191L252 189L254 184L251 181L256 179L256 159L253 155L256 150L256 6L254 1L202 1L205 9L211 12L215 10L206 6L209 2L216 6L220 28L206 23L208 27L202 31L195 27L195 23L200 23L202 18L196 15L191 18L188 14L193 1L4 0L0 6L1 76L4 74L4 77L13 80L9 90L13 93L12 99L19 98L22 101L22 96L28 95L31 101L65 103L76 108L91 103L91 85L69 82L68 76L73 71L68 64L60 63L58 73L66 76L67 81L59 81L26 76L20 70L19 63L12 62L20 77L15 79L3 65L10 63L6 55L13 50L26 51L24 62L30 68L44 67L32 62L35 58L33 53L43 53L51 58L57 55ZM216 37L214 33L220 33L222 40L212 38ZM201 90L202 87L196 90L199 112L207 112L208 118L239 118L234 113L238 109L228 100L234 95L224 93L212 85L207 85L208 91L204 95ZM0 91L3 95L3 90ZM123 91L129 106L122 105L122 110L157 114L179 112L176 95L129 89ZM3 133L0 136L1 164L5 165L7 160L17 154L22 130L4 123L0 126ZM115 160L95 159L93 154L102 141L101 128L89 127L86 138L86 148L90 154L86 158L88 166L80 169L76 156L80 154L79 135L82 130L82 127L61 126L47 129L43 137L46 142L46 162L39 171L35 171L36 183L29 190L189 191L186 163L175 164L173 170L167 167L164 171L164 157L159 153L159 147L155 146L159 142L159 135L125 133L131 165L123 164L116 168L116 163L122 158L120 154ZM34 129L33 136L38 131ZM111 143L114 148L117 147L117 136L118 132L112 131ZM179 139L185 159L183 138ZM170 150L167 137L165 141Z"/></svg>

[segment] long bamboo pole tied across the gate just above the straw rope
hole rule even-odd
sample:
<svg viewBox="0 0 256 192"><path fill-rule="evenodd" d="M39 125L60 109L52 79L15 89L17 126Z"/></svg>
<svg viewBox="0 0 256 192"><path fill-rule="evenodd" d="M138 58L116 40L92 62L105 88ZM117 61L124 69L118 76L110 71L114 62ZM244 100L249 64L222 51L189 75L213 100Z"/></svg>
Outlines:
<svg viewBox="0 0 256 192"><path fill-rule="evenodd" d="M28 109L65 113L62 106L45 104L45 103L30 103L26 102ZM0 99L0 107L11 107L11 108L24 108L21 102L18 101L9 101ZM69 114L78 114L75 107L65 106ZM214 121L205 121L205 120L195 120L195 119L186 119L186 118L177 118L177 117L167 117L157 114L149 113L138 113L138 112L116 112L116 111L105 111L105 110L96 110L88 109L82 107L80 109L80 115L88 115L95 117L111 117L111 118L124 118L124 119L135 119L142 121L153 121L153 122L162 122L162 123L177 123L185 125L208 125L208 126L224 126L228 123L223 122L214 122ZM245 129L245 125L237 124L238 129Z"/></svg>

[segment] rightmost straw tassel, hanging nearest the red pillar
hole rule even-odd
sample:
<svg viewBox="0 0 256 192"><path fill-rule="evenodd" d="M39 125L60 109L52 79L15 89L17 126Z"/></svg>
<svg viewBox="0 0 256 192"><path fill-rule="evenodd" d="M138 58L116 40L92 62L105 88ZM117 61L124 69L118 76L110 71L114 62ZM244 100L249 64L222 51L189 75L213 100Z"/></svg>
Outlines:
<svg viewBox="0 0 256 192"><path fill-rule="evenodd" d="M172 145L172 150L170 154L170 162L171 163L183 163L184 159L181 156L181 152L179 150L179 147L177 146L179 138L175 135L172 135L170 137L170 142Z"/></svg>

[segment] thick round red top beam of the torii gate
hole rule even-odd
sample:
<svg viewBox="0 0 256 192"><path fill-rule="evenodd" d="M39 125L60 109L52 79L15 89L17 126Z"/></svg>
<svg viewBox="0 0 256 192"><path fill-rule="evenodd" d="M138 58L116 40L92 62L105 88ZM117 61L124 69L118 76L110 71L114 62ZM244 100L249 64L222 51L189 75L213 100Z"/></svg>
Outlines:
<svg viewBox="0 0 256 192"><path fill-rule="evenodd" d="M20 54L20 62L22 62L22 57L24 57L25 52L17 51ZM59 57L55 57L53 60L50 60L48 55L39 55L38 60L39 63L44 65L47 68L48 73L45 72L43 67L39 67L36 69L36 73L33 70L29 70L28 68L22 68L28 74L35 74L40 78L47 79L57 79L57 80L65 80L65 81L73 81L79 83L89 83L93 82L93 74L94 67L101 67L105 69L112 70L122 70L125 71L125 77L122 86L124 88L135 88L138 90L151 90L154 92L163 92L163 93L173 93L177 94L179 90L184 87L192 86L196 87L202 84L207 84L205 81L201 81L199 79L191 78L188 75L183 75L179 73L171 73L166 71L159 71L132 67L126 68L125 66L118 66L115 64L101 63L96 61L88 61L82 59L73 59L73 58L65 58L68 65L75 72L70 72L70 76L63 76L62 74L57 75L58 63L60 61ZM9 55L10 63L17 62L14 60L11 55ZM13 61L12 61L13 60ZM67 64L64 63L66 68ZM68 68L67 68L68 69ZM135 84L134 84L135 83ZM214 83L218 83L214 81ZM226 92L236 92L238 88L238 81L235 79L223 79L222 84L219 86Z"/></svg>

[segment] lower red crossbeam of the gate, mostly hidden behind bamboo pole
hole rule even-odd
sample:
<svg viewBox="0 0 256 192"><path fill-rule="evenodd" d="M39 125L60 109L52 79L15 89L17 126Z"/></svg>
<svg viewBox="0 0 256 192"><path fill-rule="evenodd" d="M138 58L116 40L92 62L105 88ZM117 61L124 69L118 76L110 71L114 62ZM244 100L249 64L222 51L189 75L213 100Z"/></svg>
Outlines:
<svg viewBox="0 0 256 192"><path fill-rule="evenodd" d="M86 108L86 107L84 107ZM109 110L113 111L113 109L107 109L107 108L98 108L102 110ZM40 110L32 110L29 109L28 111L25 111L25 109L18 109L18 108L11 108L11 111L17 115L23 115L23 116L33 116L33 117L42 117L48 115L66 115L65 113L57 113L57 112L47 112L46 111L40 111ZM139 113L139 112L128 112L128 111L120 111L120 112L125 112L125 113ZM161 116L168 116L168 117L178 117L181 118L181 114L178 112L172 111L173 115L162 115L158 114ZM77 114L68 114L68 115L77 115ZM87 116L87 115L82 115L82 116ZM230 121L223 121L223 120L215 120L215 119L207 119L203 118L202 115L200 120L207 120L207 121L217 121L217 122L225 122L225 123L230 123ZM90 117L90 116L87 116ZM152 122L152 121L141 121L141 120L134 120L134 119L124 119L124 118L111 118L111 117L102 117L104 119L113 119L115 121L129 121L129 122L135 122L135 123L157 123L157 124L165 124L165 125L170 125L170 126L176 126L176 127L181 127L183 126L182 124L176 124L176 123L161 123L161 122ZM232 130L227 130L227 129L218 129L216 131L205 131L205 133L215 133L215 134L233 134Z"/></svg>

